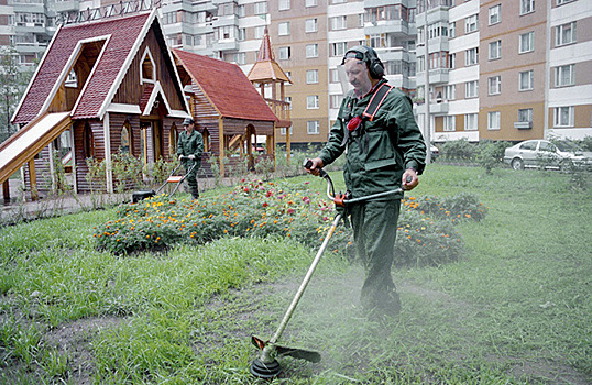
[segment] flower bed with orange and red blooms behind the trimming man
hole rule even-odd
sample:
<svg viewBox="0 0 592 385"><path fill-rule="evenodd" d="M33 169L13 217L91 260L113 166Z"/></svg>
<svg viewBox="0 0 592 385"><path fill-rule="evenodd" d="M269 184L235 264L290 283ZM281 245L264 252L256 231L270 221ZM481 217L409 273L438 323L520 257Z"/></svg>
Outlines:
<svg viewBox="0 0 592 385"><path fill-rule="evenodd" d="M95 238L99 249L118 254L179 243L204 244L222 237L292 237L316 250L336 211L331 202L307 185L242 180L228 194L199 200L163 194L121 205L118 218L96 228ZM460 255L462 242L449 220L450 212L454 221L478 216L471 208L475 205L465 206L473 200L464 197L460 199L464 204L456 205L457 200L403 200L395 246L397 264L439 264ZM442 209L443 204L453 207L452 211ZM442 210L449 215L442 216ZM340 252L348 244L351 230L339 227L329 250Z"/></svg>

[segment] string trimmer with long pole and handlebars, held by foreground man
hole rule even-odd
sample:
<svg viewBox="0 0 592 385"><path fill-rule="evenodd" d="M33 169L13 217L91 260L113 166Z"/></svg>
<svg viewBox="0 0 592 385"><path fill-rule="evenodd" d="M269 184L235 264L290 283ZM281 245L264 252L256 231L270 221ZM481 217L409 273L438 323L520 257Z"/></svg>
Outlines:
<svg viewBox="0 0 592 385"><path fill-rule="evenodd" d="M313 166L313 163L310 162L310 160L306 160L303 166L309 169ZM402 188L397 188L391 191L384 191L384 193L369 195L365 197L350 199L348 194L341 194L341 193L337 195L335 194L333 183L331 178L329 177L329 174L327 174L327 172L324 170L322 168L319 169L319 176L327 180L327 196L329 197L329 199L332 200L336 204L336 206L341 206L341 207L344 207L348 204L370 200L370 199L380 198L380 197L384 197L387 195L393 195L393 194L403 191ZM407 179L407 182L410 182L410 180ZM277 340L279 340L279 337L282 337L284 329L289 322L289 319L292 318L292 314L294 312L294 309L296 309L296 306L298 305L298 301L300 300L300 297L303 296L304 290L306 289L306 286L308 285L310 277L313 276L313 273L317 268L320 257L322 256L325 249L327 249L327 244L329 243L329 240L331 239L340 220L341 220L341 213L339 212L333 219L333 222L331 223L331 227L329 228L329 232L327 233L327 237L325 237L325 240L322 241L322 244L319 251L317 252L317 255L313 260L310 267L308 267L308 272L306 273L306 276L304 277L303 283L300 284L298 292L296 292L296 296L294 296L292 304L289 304L289 307L286 314L284 315L282 322L279 322L279 327L277 327L277 330L275 331L273 337L268 341L264 341L259 337L251 336L251 342L255 345L255 348L257 348L261 351L260 355L251 364L250 371L254 376L262 377L262 378L273 378L277 376L279 372L282 371L282 367L279 366L279 363L276 360L276 358L278 356L289 355L294 359L300 359L300 360L306 360L310 362L320 361L319 352L316 352L313 350L299 349L299 348L283 346L283 345L277 344Z"/></svg>

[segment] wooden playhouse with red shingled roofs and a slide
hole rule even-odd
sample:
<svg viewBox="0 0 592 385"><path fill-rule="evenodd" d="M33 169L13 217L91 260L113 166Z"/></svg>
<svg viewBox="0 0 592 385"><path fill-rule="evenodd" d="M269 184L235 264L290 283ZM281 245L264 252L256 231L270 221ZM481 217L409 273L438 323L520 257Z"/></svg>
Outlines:
<svg viewBox="0 0 592 385"><path fill-rule="evenodd" d="M75 193L89 193L89 158L105 162L102 188L113 193L113 155L147 167L171 161L187 117L205 136L204 172L211 175L207 161L216 156L222 176L224 165L244 157L250 168L273 161L276 123L289 123L237 65L169 50L156 10L62 25L12 117L20 129L0 144L4 200L19 169L25 197L55 190L56 162ZM255 157L261 147L264 155Z"/></svg>

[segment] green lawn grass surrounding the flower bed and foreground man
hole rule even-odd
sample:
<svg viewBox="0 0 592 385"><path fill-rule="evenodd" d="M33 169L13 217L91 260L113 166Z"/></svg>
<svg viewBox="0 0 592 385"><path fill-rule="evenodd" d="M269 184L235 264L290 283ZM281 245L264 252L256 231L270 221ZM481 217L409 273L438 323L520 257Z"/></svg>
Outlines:
<svg viewBox="0 0 592 385"><path fill-rule="evenodd" d="M420 180L410 195L471 191L490 208L459 224L465 255L394 271L403 311L376 321L359 307L361 268L327 253L281 339L322 361L281 359L274 383L591 383L590 193L555 172L436 164ZM114 256L92 240L112 216L0 229L0 384L254 383L250 336L273 334L317 245L227 238Z"/></svg>

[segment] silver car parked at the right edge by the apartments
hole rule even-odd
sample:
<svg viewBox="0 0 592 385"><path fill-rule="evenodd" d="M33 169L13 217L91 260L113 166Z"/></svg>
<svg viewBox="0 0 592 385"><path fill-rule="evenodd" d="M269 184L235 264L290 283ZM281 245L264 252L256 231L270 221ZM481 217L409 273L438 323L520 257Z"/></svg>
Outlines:
<svg viewBox="0 0 592 385"><path fill-rule="evenodd" d="M592 153L567 140L529 140L507 147L504 162L514 169L546 167L566 169L573 166L592 168Z"/></svg>

